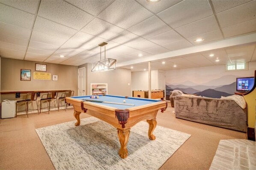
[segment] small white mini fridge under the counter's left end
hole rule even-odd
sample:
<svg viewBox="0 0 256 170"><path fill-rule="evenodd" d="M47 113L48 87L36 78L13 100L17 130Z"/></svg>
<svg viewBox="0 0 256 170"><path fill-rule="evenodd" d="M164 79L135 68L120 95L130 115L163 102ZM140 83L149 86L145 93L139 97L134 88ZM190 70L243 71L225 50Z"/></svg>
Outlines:
<svg viewBox="0 0 256 170"><path fill-rule="evenodd" d="M4 100L2 102L1 118L14 118L16 115L16 101Z"/></svg>

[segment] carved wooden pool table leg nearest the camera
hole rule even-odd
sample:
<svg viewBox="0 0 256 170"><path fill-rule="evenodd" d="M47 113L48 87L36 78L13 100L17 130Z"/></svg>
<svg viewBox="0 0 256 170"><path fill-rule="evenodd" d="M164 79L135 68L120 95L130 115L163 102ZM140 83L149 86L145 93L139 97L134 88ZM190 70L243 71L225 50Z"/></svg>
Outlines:
<svg viewBox="0 0 256 170"><path fill-rule="evenodd" d="M128 156L128 150L126 145L128 143L129 136L130 136L130 129L131 128L125 131L117 129L117 135L121 144L121 147L118 153L121 158L126 158Z"/></svg>

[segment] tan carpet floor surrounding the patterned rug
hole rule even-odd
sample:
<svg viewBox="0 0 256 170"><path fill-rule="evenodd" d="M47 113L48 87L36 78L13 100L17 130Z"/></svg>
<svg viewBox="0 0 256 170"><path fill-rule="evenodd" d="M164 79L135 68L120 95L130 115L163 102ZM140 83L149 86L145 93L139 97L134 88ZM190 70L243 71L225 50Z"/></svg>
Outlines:
<svg viewBox="0 0 256 170"><path fill-rule="evenodd" d="M89 116L80 115L86 117ZM54 169L35 129L68 121L74 121L73 109L0 119L0 169ZM177 119L171 107L164 113L158 112L157 121L160 126L191 134L161 170L208 170L220 139L246 138L245 133Z"/></svg>

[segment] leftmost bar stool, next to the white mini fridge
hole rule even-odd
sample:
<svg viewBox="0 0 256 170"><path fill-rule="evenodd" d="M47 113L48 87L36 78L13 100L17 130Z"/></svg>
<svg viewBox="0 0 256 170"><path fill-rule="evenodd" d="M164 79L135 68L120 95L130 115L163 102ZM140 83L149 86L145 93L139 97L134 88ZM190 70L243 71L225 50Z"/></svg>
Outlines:
<svg viewBox="0 0 256 170"><path fill-rule="evenodd" d="M36 97L36 98L35 98L35 97ZM24 111L26 111L27 117L28 117L28 112L30 112L30 111L37 110L37 112L38 112L38 114L39 114L37 102L36 102L36 109L29 109L29 108L28 108L29 103L32 103L32 104L33 104L33 101L36 101L36 99L37 99L36 92L29 92L29 93L27 93L26 98L25 98L24 100L17 101L17 102L16 102L16 105L17 105L17 107L16 107L16 108L17 108L17 109L16 109L16 117L17 117L17 113L18 113L18 112L24 112ZM25 104L25 110L20 110L20 111L18 111L19 103L24 103L24 104Z"/></svg>

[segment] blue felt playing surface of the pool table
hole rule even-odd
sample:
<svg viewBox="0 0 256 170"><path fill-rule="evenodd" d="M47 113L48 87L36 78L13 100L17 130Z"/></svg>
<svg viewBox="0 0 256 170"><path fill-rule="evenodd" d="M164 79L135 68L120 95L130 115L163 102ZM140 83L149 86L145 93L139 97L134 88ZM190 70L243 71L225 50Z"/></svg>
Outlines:
<svg viewBox="0 0 256 170"><path fill-rule="evenodd" d="M98 96L99 96L99 98L90 98L90 95L74 96L71 98L74 98L77 100L88 99L88 100L95 100L95 101L110 101L110 102L116 102L116 103L124 103L123 101L125 100L126 104L135 104L135 106L127 106L127 105L96 103L95 102L95 104L101 104L104 106L115 107L117 109L128 109L128 108L132 108L132 107L138 107L138 106L152 104L152 103L161 101L161 100L154 100L154 99L147 99L147 98L134 98L134 97L125 98L124 96L116 96L116 95L98 95ZM90 102L90 101L88 101L88 102Z"/></svg>

